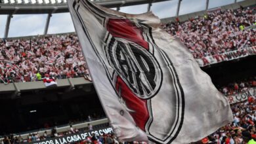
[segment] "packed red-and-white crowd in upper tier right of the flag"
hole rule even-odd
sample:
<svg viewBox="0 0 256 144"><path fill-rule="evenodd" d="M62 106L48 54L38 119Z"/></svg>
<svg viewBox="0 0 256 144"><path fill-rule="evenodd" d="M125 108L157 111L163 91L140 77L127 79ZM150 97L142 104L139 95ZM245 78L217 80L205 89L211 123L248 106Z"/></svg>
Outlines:
<svg viewBox="0 0 256 144"><path fill-rule="evenodd" d="M256 25L255 13L255 7L217 9L184 22L177 18L162 27L171 35L179 37L194 58L202 58L255 46L256 30L247 29L248 26Z"/></svg>

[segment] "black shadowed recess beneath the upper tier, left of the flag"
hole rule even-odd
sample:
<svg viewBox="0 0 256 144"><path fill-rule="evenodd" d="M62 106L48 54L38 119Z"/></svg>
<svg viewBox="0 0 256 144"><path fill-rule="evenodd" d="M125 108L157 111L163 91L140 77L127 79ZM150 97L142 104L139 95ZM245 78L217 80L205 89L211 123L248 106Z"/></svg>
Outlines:
<svg viewBox="0 0 256 144"><path fill-rule="evenodd" d="M98 129L108 122L93 88L66 90L36 89L22 92L16 99L3 99L0 94L0 141L9 134L26 139L29 134L43 135L45 131L49 134L53 128L57 133L66 132L70 130L70 124L83 130L87 124Z"/></svg>

